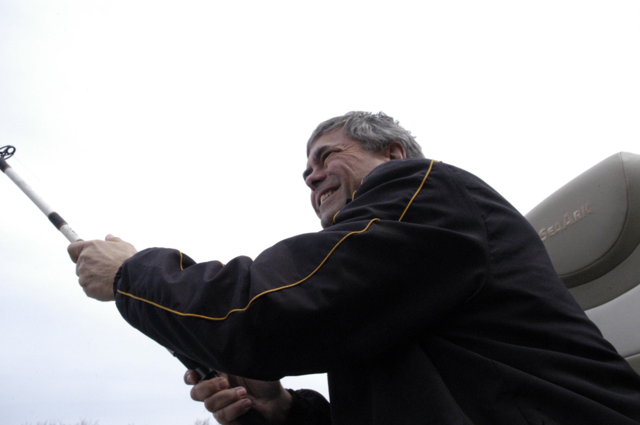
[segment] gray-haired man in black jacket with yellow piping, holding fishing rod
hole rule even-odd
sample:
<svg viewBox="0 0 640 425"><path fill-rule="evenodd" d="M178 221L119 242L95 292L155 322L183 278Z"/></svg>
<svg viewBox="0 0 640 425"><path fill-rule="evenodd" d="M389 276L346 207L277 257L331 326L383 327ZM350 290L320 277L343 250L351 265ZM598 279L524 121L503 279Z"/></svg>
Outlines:
<svg viewBox="0 0 640 425"><path fill-rule="evenodd" d="M320 124L307 154L324 230L253 262L195 264L111 236L69 246L89 296L233 374L192 389L216 419L253 408L271 423L326 423L316 396L269 382L326 372L334 424L640 423L640 376L486 183L422 158L382 113Z"/></svg>

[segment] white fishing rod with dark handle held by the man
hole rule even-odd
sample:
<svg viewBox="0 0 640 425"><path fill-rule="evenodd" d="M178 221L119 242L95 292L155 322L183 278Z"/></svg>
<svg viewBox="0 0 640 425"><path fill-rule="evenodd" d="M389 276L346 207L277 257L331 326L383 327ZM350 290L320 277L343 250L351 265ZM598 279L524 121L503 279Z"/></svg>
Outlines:
<svg viewBox="0 0 640 425"><path fill-rule="evenodd" d="M49 206L49 204L47 204L44 199L42 199L42 197L40 197L40 195L38 195L36 191L33 190L33 188L31 188L31 186L29 186L27 182L24 181L24 179L22 179L22 177L20 177L17 172L15 172L15 170L13 170L12 166L10 166L6 162L6 159L12 157L13 154L15 154L15 147L11 145L6 145L0 148L0 170L2 170L2 172L6 174L6 176L9 177L16 184L16 186L18 186L20 190L22 190L24 194L27 195L29 199L31 199L31 201L33 201L34 204L36 204L40 211L42 211L44 215L49 218L49 221L51 221L56 229L60 230L61 234L63 234L69 242L83 241L84 239L81 239L81 237L78 236L78 234L73 229L71 229L71 227L69 227L67 221L65 221L60 216L60 214L58 214L58 212L53 211L51 206ZM198 364L198 362L195 362L195 360L191 360L190 358L180 355L180 353L176 353L175 351L168 348L167 351L172 353L172 355L180 360L180 362L182 362L182 364L185 365L188 369L196 371L198 375L200 375L200 381L210 380L212 378L220 376L213 369ZM236 420L243 425L257 425L264 423L264 419L262 419L260 414L255 412L255 410L253 409L247 413L244 413L244 415L238 417Z"/></svg>

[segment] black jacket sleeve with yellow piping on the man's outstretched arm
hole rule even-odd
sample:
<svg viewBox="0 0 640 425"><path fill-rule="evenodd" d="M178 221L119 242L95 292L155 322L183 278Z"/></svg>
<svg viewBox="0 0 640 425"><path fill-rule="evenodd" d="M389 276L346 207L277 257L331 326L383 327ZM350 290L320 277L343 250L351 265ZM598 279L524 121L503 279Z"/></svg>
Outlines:
<svg viewBox="0 0 640 425"><path fill-rule="evenodd" d="M255 261L141 251L116 277L118 310L163 346L248 378L380 355L452 314L485 278L483 221L464 188L445 166L429 180L411 164L376 168L335 225Z"/></svg>

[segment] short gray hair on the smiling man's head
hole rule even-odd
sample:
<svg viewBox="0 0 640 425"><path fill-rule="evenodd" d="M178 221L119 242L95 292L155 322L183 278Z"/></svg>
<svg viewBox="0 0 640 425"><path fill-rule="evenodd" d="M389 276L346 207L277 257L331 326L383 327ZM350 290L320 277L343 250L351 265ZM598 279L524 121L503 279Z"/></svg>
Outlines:
<svg viewBox="0 0 640 425"><path fill-rule="evenodd" d="M405 130L399 121L383 112L377 114L363 111L351 111L320 123L307 141L307 156L311 145L324 133L344 127L344 134L362 143L365 150L379 151L393 141L399 141L406 150L408 158L424 158L422 148L415 141L415 136Z"/></svg>

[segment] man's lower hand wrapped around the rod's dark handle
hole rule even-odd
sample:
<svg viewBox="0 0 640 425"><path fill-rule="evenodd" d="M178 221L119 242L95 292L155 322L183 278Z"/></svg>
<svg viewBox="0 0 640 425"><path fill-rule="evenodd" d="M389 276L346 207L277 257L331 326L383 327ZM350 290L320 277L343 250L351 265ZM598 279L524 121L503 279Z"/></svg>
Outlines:
<svg viewBox="0 0 640 425"><path fill-rule="evenodd" d="M221 424L239 425L237 417L254 408L269 424L280 424L291 408L291 394L280 381L257 381L221 374L219 378L198 382L195 371L184 374L184 382L193 385L191 398L204 406ZM197 382L197 383L196 383Z"/></svg>

